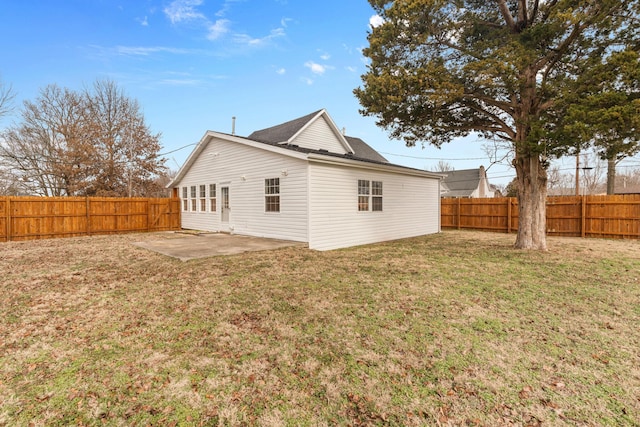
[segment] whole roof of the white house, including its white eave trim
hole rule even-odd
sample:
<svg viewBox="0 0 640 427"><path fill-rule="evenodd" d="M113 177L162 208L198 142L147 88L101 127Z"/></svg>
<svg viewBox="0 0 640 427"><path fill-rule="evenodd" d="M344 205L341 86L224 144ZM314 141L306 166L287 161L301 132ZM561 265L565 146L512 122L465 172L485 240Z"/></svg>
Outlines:
<svg viewBox="0 0 640 427"><path fill-rule="evenodd" d="M300 135L304 129L308 128L314 122L320 120L321 118L326 120L326 123L329 125L337 140L340 141L340 144L342 144L342 146L345 148L344 152L336 153L327 151L322 148L314 149L302 147L296 144L296 137ZM202 150L204 150L206 145L213 137L243 143L245 145L257 148L268 149L269 151L274 151L283 155L298 157L306 160L331 162L337 161L345 165L367 163L372 165L379 165L380 167L397 172L417 174L433 178L442 178L443 176L442 174L435 172L428 172L421 169L414 169L389 163L387 159L381 156L362 139L342 135L342 133L333 123L333 120L331 120L327 112L323 109L277 126L255 131L248 137L208 131L202 137L200 142L198 142L198 145L189 155L185 164L180 168L176 177L167 185L167 187L172 187L176 183L180 182L193 162L198 158L199 154L202 152Z"/></svg>

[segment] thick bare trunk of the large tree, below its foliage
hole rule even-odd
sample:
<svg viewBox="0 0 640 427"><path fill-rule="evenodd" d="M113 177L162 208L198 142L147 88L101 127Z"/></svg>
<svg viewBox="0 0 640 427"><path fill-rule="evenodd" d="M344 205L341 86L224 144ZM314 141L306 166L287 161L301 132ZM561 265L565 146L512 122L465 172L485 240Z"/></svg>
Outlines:
<svg viewBox="0 0 640 427"><path fill-rule="evenodd" d="M547 171L537 154L517 155L518 236L516 249L547 249Z"/></svg>

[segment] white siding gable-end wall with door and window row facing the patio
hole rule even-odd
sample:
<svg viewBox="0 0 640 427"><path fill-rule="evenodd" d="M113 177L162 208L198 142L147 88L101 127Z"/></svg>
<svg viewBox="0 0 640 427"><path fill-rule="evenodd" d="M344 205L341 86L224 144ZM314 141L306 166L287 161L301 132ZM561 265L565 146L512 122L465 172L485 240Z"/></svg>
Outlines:
<svg viewBox="0 0 640 427"><path fill-rule="evenodd" d="M280 178L280 212L265 212L264 180L267 178ZM209 184L216 184L217 211L183 211L183 228L308 241L306 161L213 139L177 184L180 197L182 187L190 191L195 185L199 191L201 184L207 185L207 195ZM223 186L229 187L228 226L221 223L220 188Z"/></svg>

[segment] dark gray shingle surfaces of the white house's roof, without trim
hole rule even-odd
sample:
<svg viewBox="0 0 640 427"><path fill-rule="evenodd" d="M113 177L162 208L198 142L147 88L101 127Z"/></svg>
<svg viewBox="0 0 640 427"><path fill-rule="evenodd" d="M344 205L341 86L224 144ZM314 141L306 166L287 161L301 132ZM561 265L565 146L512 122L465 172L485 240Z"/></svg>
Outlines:
<svg viewBox="0 0 640 427"><path fill-rule="evenodd" d="M306 116L299 117L294 120L290 120L288 122L272 126L270 128L261 129L253 132L247 138L253 141L264 142L267 144L281 144L283 142L287 142L291 139L293 135L298 133L300 129L302 129L311 119L316 117L318 113L322 110L315 111L311 114L307 114ZM371 148L369 144L364 142L360 138L355 138L351 136L344 135L344 138L347 140L351 148L353 148L353 156L354 158L359 158L363 160L380 162L380 163L388 163L388 160L385 159L380 153ZM306 151L312 152L315 150L304 150L301 147L296 146L287 146L283 145L285 148L295 148L297 151ZM332 153L336 154L336 153Z"/></svg>

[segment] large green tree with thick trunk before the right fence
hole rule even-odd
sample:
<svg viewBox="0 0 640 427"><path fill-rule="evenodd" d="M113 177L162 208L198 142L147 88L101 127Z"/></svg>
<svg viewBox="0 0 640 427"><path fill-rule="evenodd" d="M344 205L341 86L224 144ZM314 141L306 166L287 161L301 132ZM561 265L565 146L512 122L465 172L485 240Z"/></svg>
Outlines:
<svg viewBox="0 0 640 427"><path fill-rule="evenodd" d="M519 201L516 248L546 249L547 157L576 64L633 40L640 0L370 0L382 18L354 93L361 112L407 145L472 132L508 142ZM604 62L604 61L602 61Z"/></svg>

